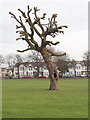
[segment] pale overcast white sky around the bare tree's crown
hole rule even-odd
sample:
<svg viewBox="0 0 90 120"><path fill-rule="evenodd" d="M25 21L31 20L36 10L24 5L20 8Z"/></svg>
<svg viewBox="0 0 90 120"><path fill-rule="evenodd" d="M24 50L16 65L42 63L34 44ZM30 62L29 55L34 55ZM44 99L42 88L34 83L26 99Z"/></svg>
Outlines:
<svg viewBox="0 0 90 120"><path fill-rule="evenodd" d="M0 54L16 53L17 49L27 47L23 41L16 41L16 22L9 15L9 11L18 15L18 8L26 11L27 5L38 6L40 13L47 13L47 18L53 13L58 14L58 25L67 25L68 29L64 29L64 35L54 38L60 41L56 50L81 60L88 50L88 0L0 0Z"/></svg>

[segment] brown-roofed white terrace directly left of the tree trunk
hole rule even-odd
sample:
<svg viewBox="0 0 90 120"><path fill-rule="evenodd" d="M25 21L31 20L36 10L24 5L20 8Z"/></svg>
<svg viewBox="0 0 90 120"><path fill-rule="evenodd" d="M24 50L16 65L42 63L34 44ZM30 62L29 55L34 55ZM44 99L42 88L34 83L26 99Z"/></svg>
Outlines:
<svg viewBox="0 0 90 120"><path fill-rule="evenodd" d="M35 66L35 63L33 63L33 62L21 63L19 65L19 73L18 73L18 67L16 65L14 67L14 76L18 77L18 74L19 74L20 78L22 78L24 76L35 77L37 74L37 66ZM39 76L45 76L45 77L49 76L49 72L46 68L45 63L43 63L43 66L39 67Z"/></svg>

